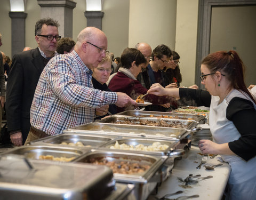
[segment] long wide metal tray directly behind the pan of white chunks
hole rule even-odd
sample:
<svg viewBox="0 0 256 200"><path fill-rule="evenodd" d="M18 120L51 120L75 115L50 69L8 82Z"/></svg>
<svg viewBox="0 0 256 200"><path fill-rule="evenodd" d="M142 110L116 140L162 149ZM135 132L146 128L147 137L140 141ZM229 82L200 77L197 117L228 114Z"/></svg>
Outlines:
<svg viewBox="0 0 256 200"><path fill-rule="evenodd" d="M73 134L107 134L122 136L153 137L159 139L180 140L191 131L169 127L155 127L129 124L88 123L64 130L64 133Z"/></svg>

